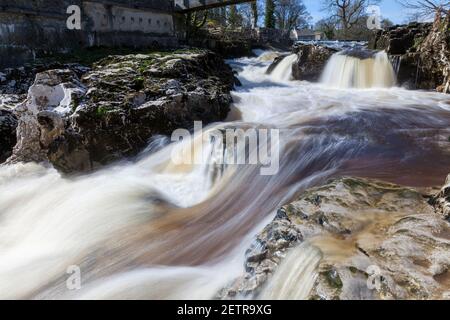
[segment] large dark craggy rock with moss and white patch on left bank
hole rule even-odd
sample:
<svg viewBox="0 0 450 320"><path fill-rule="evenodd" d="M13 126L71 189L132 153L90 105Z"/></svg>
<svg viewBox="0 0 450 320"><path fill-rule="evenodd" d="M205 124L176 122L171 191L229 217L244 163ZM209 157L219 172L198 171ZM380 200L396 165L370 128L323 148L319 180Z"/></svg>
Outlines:
<svg viewBox="0 0 450 320"><path fill-rule="evenodd" d="M16 108L11 162L50 161L71 173L135 156L154 135L225 119L235 81L231 68L205 50L109 56L81 74L37 74Z"/></svg>

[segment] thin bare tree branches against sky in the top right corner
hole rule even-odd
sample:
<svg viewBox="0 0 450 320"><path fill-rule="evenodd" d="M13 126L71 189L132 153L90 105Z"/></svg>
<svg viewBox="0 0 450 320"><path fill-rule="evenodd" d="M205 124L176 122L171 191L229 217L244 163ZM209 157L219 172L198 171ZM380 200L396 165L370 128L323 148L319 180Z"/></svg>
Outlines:
<svg viewBox="0 0 450 320"><path fill-rule="evenodd" d="M450 11L449 0L397 0L404 8L412 11L415 19L430 19L436 14Z"/></svg>

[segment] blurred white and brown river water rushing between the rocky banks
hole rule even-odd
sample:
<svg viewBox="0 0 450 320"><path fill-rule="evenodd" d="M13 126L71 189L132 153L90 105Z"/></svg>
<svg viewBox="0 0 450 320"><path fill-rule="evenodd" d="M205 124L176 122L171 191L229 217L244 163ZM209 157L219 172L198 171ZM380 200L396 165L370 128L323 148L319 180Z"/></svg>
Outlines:
<svg viewBox="0 0 450 320"><path fill-rule="evenodd" d="M272 56L230 62L243 86L226 126L279 129L276 175L214 159L177 165L172 155L188 143L165 137L133 162L77 178L37 164L1 167L0 298L209 299L243 272L246 248L276 208L305 188L340 175L443 182L449 96L288 81L289 65L284 77L265 74ZM307 296L320 252L302 248L263 297ZM66 287L72 265L80 290Z"/></svg>

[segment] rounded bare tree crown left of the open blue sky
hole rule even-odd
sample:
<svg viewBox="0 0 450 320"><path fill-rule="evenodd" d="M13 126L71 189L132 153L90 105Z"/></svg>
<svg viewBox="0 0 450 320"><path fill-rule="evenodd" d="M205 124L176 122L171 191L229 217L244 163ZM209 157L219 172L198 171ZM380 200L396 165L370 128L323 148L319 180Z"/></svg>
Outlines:
<svg viewBox="0 0 450 320"><path fill-rule="evenodd" d="M302 0L278 0L275 19L279 29L292 30L308 26L311 16Z"/></svg>

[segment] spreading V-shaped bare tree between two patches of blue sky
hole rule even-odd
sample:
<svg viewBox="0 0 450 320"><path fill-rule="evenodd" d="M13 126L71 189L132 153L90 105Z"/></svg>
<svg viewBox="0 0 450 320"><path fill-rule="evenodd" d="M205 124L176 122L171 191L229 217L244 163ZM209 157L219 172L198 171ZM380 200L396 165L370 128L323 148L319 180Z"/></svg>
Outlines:
<svg viewBox="0 0 450 320"><path fill-rule="evenodd" d="M339 27L346 37L354 26L361 22L369 5L378 4L379 0L323 0L323 10L332 12L332 18L336 18Z"/></svg>

